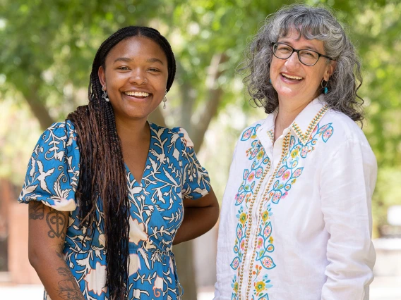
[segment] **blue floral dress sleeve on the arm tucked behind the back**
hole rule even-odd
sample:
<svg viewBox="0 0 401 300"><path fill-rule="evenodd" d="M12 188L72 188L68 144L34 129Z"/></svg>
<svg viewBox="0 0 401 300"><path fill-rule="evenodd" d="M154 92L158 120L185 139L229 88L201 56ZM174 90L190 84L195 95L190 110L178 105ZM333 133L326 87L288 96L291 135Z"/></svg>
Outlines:
<svg viewBox="0 0 401 300"><path fill-rule="evenodd" d="M182 146L182 196L186 199L199 199L210 192L210 178L208 171L200 165L193 142L184 128L176 127L173 132L178 133Z"/></svg>

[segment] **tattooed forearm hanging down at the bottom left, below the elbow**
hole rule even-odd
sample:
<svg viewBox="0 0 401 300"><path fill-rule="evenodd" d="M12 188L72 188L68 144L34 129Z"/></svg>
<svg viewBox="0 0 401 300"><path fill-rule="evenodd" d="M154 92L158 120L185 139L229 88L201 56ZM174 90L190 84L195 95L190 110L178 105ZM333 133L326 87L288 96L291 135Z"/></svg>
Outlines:
<svg viewBox="0 0 401 300"><path fill-rule="evenodd" d="M31 264L52 300L85 300L59 251L40 254Z"/></svg>

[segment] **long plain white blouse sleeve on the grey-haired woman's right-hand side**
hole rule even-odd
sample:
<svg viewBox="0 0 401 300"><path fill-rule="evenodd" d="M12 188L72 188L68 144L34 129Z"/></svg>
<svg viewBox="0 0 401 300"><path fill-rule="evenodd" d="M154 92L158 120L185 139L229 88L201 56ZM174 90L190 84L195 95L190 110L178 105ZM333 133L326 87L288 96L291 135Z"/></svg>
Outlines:
<svg viewBox="0 0 401 300"><path fill-rule="evenodd" d="M325 161L321 206L330 239L323 300L369 299L376 261L371 242L376 176L376 158L367 142L347 141Z"/></svg>

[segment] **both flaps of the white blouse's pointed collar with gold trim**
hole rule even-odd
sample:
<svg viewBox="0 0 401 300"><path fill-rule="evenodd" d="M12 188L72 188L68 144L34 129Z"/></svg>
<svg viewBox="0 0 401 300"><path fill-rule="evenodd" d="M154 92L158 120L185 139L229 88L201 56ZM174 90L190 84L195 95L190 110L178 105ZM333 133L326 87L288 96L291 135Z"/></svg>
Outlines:
<svg viewBox="0 0 401 300"><path fill-rule="evenodd" d="M289 125L289 128L294 131L294 134L299 137L301 143L305 145L309 137L311 137L316 125L318 125L327 111L328 106L324 103L324 96L318 96L318 98L311 101L311 103L297 115L297 118ZM274 144L274 128L277 113L278 108L265 118L265 121L257 130L258 137L261 139L262 144L267 144L268 142L269 144Z"/></svg>

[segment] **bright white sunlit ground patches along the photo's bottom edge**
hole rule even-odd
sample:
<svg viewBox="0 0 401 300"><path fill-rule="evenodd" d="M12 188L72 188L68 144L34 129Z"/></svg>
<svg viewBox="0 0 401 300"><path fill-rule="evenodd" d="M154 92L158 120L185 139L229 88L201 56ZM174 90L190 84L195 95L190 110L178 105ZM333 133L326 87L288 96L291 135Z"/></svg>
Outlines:
<svg viewBox="0 0 401 300"><path fill-rule="evenodd" d="M400 300L401 277L376 277L371 285L370 300ZM1 300L40 300L43 288L40 285L0 286ZM213 287L201 289L198 300L212 300ZM185 299L184 300L188 300Z"/></svg>

